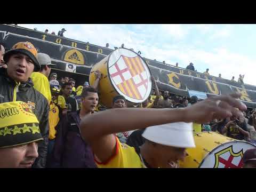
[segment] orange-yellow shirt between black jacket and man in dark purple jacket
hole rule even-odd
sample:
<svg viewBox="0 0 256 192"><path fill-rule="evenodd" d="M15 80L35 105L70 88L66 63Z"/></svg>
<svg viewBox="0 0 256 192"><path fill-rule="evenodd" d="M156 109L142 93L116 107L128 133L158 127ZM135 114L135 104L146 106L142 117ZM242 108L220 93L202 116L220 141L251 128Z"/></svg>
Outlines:
<svg viewBox="0 0 256 192"><path fill-rule="evenodd" d="M59 108L55 105L54 102L50 104L50 111L49 111L49 139L55 139L56 130L55 127L59 123Z"/></svg>

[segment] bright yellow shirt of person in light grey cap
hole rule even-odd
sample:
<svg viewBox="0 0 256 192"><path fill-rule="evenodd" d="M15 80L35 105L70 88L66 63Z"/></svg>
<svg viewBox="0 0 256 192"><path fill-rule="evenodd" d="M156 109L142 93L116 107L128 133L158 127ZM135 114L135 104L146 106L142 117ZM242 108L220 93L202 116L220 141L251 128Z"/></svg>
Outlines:
<svg viewBox="0 0 256 192"><path fill-rule="evenodd" d="M39 72L33 72L30 76L34 83L34 88L42 93L44 97L47 99L49 105L52 99L52 94L50 90L50 83L47 79L47 77Z"/></svg>

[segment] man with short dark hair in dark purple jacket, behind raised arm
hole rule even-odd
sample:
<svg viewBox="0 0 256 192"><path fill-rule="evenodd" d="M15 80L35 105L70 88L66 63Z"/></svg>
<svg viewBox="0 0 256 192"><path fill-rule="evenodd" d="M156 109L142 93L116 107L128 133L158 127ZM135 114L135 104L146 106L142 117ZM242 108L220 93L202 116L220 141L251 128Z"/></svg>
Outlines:
<svg viewBox="0 0 256 192"><path fill-rule="evenodd" d="M97 90L84 87L81 94L81 109L62 117L57 126L55 146L49 160L49 167L96 168L91 147L81 137L79 124L90 116L98 104ZM93 126L90 128L93 129ZM48 164L48 163L47 163Z"/></svg>

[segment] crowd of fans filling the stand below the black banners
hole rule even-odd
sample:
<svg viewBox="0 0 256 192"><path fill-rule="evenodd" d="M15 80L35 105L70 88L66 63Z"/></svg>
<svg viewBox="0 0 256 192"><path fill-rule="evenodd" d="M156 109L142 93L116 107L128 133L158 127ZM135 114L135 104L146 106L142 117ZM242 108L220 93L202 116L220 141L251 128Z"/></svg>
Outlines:
<svg viewBox="0 0 256 192"><path fill-rule="evenodd" d="M145 102L131 105L116 95L107 109L99 101L100 71L94 71L93 85L76 86L73 78L51 74L51 58L33 44L0 48L0 167L174 168L186 148L195 147L187 139L193 138L189 122L194 133L256 143L255 110L246 111L239 94L181 97L159 90L151 77L153 91ZM253 153L246 153L246 167L255 167Z"/></svg>

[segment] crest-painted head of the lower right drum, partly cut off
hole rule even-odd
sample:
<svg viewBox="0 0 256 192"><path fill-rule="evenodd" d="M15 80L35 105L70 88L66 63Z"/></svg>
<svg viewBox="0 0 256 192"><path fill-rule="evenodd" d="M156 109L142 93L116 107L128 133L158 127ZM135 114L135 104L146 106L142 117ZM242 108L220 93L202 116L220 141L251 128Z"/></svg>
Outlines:
<svg viewBox="0 0 256 192"><path fill-rule="evenodd" d="M243 166L243 154L247 149L255 148L246 141L230 141L219 145L202 161L200 168L240 168Z"/></svg>

